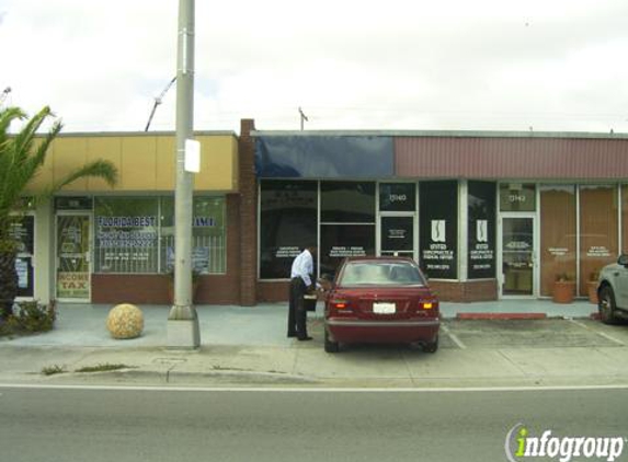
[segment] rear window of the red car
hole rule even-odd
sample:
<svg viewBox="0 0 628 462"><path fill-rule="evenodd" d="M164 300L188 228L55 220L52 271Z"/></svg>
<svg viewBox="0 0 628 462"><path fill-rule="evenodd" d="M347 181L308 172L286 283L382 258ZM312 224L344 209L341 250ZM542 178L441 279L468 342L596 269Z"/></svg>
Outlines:
<svg viewBox="0 0 628 462"><path fill-rule="evenodd" d="M410 263L350 262L342 272L341 286L424 286L419 268Z"/></svg>

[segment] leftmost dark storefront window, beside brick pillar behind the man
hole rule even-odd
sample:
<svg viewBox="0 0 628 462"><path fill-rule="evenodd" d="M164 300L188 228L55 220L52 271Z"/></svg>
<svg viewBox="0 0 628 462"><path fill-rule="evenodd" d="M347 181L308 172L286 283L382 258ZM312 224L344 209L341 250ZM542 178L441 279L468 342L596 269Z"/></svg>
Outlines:
<svg viewBox="0 0 628 462"><path fill-rule="evenodd" d="M261 185L260 277L290 277L295 256L317 240L317 182L263 181Z"/></svg>

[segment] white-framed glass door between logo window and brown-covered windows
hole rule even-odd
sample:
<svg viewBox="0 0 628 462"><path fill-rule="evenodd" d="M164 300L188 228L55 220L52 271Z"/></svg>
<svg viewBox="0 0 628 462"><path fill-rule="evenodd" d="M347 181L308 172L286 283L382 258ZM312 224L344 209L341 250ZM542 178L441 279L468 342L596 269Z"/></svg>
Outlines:
<svg viewBox="0 0 628 462"><path fill-rule="evenodd" d="M534 217L502 218L502 296L536 293L534 230Z"/></svg>

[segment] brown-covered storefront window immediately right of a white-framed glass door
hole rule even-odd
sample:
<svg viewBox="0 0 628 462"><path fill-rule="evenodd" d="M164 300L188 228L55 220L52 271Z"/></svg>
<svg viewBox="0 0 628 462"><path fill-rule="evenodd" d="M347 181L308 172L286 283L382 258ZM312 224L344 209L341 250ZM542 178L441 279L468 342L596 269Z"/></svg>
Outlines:
<svg viewBox="0 0 628 462"><path fill-rule="evenodd" d="M540 186L540 294L550 297L560 275L575 277L575 187Z"/></svg>

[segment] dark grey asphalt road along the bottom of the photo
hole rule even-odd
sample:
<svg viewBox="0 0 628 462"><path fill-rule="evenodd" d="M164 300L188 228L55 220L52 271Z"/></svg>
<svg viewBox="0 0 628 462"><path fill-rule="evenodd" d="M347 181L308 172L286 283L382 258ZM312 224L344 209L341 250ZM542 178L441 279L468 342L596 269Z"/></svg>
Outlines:
<svg viewBox="0 0 628 462"><path fill-rule="evenodd" d="M0 389L0 460L504 461L518 423L530 436L626 438L627 402L626 389Z"/></svg>

